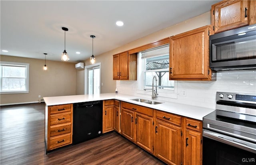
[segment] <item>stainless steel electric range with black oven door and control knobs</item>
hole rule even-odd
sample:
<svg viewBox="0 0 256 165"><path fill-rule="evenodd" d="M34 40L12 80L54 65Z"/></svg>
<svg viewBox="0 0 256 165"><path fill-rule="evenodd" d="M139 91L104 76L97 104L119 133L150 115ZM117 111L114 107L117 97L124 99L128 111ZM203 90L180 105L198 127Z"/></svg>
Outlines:
<svg viewBox="0 0 256 165"><path fill-rule="evenodd" d="M216 93L203 118L203 164L256 164L256 94Z"/></svg>

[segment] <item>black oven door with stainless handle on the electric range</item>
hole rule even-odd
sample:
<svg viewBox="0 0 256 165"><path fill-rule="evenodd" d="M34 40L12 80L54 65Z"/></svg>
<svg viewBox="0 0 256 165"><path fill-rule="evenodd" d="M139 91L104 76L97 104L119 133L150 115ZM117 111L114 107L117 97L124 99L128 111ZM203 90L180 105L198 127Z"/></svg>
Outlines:
<svg viewBox="0 0 256 165"><path fill-rule="evenodd" d="M255 165L256 144L203 129L203 165Z"/></svg>

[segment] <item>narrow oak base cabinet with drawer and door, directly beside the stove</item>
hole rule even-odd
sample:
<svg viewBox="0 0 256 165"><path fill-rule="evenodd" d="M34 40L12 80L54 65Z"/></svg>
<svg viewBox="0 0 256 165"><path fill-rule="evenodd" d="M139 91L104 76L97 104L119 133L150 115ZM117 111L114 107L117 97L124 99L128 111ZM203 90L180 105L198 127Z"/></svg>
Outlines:
<svg viewBox="0 0 256 165"><path fill-rule="evenodd" d="M186 165L202 165L202 121L185 118L184 158Z"/></svg>

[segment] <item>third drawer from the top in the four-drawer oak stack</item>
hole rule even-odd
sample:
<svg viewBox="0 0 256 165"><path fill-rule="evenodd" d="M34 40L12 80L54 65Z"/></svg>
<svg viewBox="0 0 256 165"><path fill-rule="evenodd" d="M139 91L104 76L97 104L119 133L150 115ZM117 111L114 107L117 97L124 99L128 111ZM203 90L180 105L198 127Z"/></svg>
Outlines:
<svg viewBox="0 0 256 165"><path fill-rule="evenodd" d="M60 124L60 125L55 125L50 127L50 137L67 134L70 132L71 132L71 123Z"/></svg>

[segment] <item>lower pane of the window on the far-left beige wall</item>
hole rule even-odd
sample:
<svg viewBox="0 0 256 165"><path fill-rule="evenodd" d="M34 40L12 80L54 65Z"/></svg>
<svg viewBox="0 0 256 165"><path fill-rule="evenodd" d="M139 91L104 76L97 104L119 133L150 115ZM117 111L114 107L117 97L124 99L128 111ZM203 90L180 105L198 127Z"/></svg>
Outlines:
<svg viewBox="0 0 256 165"><path fill-rule="evenodd" d="M24 78L2 78L2 91L26 90Z"/></svg>

